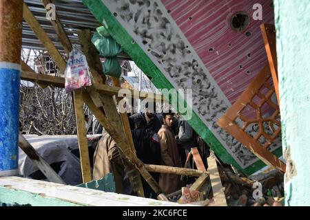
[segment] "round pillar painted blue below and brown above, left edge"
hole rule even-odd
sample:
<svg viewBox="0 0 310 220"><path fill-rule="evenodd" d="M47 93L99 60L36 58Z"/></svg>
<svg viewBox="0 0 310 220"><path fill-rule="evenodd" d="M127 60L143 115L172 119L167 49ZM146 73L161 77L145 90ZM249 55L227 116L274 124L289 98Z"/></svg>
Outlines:
<svg viewBox="0 0 310 220"><path fill-rule="evenodd" d="M0 1L0 177L18 174L22 0Z"/></svg>

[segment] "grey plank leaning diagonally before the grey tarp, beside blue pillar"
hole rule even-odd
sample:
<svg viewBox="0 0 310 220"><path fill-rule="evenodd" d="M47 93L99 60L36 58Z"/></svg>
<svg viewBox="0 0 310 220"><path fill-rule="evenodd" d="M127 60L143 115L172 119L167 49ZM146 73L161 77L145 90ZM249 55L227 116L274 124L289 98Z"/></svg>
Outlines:
<svg viewBox="0 0 310 220"><path fill-rule="evenodd" d="M19 134L19 147L25 152L26 155L30 159L32 159L32 162L37 165L39 170L45 175L46 178L48 178L49 181L57 183L57 184L66 184L61 177L50 167L50 164L37 153L37 151L34 149L34 147L28 142L28 140L25 140L25 137L23 135Z"/></svg>

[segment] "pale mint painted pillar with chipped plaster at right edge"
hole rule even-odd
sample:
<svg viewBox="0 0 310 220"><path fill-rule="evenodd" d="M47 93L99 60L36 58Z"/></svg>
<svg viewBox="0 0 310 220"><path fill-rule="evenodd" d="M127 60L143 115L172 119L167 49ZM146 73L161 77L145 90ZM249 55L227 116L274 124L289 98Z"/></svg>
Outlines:
<svg viewBox="0 0 310 220"><path fill-rule="evenodd" d="M274 0L285 205L310 206L310 1Z"/></svg>

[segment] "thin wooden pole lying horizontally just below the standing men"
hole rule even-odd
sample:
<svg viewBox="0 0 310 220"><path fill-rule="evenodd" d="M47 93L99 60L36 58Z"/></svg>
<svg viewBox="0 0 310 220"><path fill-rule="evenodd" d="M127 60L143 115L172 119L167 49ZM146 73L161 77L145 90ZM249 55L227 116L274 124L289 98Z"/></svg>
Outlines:
<svg viewBox="0 0 310 220"><path fill-rule="evenodd" d="M174 175L188 175L191 177L200 177L200 175L207 174L207 171L203 170L194 170L189 168L180 168L174 166L162 166L162 165L153 165L153 164L144 164L147 171L151 173L168 173Z"/></svg>

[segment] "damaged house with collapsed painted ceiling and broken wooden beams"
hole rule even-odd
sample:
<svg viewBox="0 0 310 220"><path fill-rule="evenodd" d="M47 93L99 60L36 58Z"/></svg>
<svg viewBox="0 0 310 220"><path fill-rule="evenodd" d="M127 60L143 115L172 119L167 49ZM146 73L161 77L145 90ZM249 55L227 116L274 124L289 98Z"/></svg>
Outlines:
<svg viewBox="0 0 310 220"><path fill-rule="evenodd" d="M301 8L310 2L0 1L1 206L309 206ZM129 116L151 102L161 123L175 112L173 136L183 120L195 134L183 166L138 157ZM103 132L88 131L95 121ZM132 192L116 193L113 172L93 178L104 133ZM182 186L166 193L154 173Z"/></svg>

